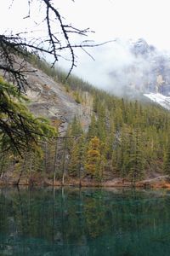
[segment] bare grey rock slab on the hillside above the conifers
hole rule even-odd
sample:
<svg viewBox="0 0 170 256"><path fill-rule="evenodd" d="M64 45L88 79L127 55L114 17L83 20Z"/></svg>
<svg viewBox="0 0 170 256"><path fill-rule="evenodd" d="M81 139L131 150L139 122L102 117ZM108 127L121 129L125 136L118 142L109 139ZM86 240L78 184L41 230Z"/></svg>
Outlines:
<svg viewBox="0 0 170 256"><path fill-rule="evenodd" d="M27 63L27 69L33 71L35 67ZM82 120L84 129L88 127L92 111L90 101L88 105L77 103L62 84L55 82L39 69L35 73L29 73L26 79L29 84L26 87L26 95L31 100L29 108L32 113L58 120L61 133L75 116ZM87 93L83 96L86 97Z"/></svg>

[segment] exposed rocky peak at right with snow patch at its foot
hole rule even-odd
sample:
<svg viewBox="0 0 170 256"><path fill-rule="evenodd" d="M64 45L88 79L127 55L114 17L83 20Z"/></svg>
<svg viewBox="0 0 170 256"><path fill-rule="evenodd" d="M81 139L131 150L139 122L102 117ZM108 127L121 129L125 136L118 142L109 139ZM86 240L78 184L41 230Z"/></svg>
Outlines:
<svg viewBox="0 0 170 256"><path fill-rule="evenodd" d="M141 58L148 64L148 70L143 69L139 80L144 96L170 110L170 55L158 51L142 38L132 45L131 50L137 59Z"/></svg>

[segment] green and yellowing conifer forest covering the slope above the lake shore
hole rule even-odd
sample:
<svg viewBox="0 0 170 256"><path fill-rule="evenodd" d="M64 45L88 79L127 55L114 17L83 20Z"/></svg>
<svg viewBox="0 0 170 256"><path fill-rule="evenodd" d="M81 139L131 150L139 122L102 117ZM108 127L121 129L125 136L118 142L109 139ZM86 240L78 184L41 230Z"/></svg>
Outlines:
<svg viewBox="0 0 170 256"><path fill-rule="evenodd" d="M79 184L82 180L103 183L122 177L135 184L155 173L169 174L170 113L167 110L150 102L118 98L74 75L65 81L65 72L61 69L51 69L47 62L34 55L29 58L34 67L64 86L77 104L88 105L90 98L90 123L88 129L84 129L82 120L75 116L65 136L60 137L58 119L44 119L42 126L37 119L34 129L48 134L48 137L38 137L37 132L37 141L32 141L30 148L1 150L1 179L12 177L17 184L24 178L31 184L46 180L64 185L69 180ZM2 83L5 84L4 81ZM16 100L13 103L16 107ZM17 108L24 108L23 112L29 113L20 99L17 104L20 105ZM29 114L29 118L34 119Z"/></svg>

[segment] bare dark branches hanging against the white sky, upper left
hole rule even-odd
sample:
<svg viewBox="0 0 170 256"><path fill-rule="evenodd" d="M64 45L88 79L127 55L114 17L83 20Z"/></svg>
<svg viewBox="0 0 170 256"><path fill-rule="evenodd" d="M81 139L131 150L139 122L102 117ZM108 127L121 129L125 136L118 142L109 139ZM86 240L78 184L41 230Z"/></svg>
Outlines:
<svg viewBox="0 0 170 256"><path fill-rule="evenodd" d="M14 1L11 3L11 8ZM0 34L0 70L3 71L6 78L17 84L20 90L26 85L26 73L32 72L32 70L26 68L26 60L29 54L53 56L52 67L54 67L60 58L64 58L65 50L69 50L71 67L67 74L68 78L73 67L76 67L75 49L82 49L88 54L87 48L101 45L94 44L90 40L83 40L81 44L76 44L72 35L87 37L88 33L92 31L89 28L79 29L70 23L65 23L65 18L59 13L59 9L54 5L53 0L27 1L28 15L25 19L31 19L31 4L36 2L40 4L41 15L44 17L42 23L46 25L46 38L35 38L35 31ZM16 55L19 55L22 61L16 58Z"/></svg>

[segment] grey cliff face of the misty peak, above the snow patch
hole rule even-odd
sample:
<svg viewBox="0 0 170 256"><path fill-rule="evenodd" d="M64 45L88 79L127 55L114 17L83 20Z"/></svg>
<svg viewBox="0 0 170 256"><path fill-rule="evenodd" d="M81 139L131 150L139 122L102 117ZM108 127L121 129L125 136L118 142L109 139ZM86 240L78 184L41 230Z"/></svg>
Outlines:
<svg viewBox="0 0 170 256"><path fill-rule="evenodd" d="M164 96L170 94L170 55L159 52L155 47L147 44L144 39L139 39L133 44L132 52L135 57L141 58L139 70L140 89L143 92L158 92ZM142 67L143 66L143 67Z"/></svg>

